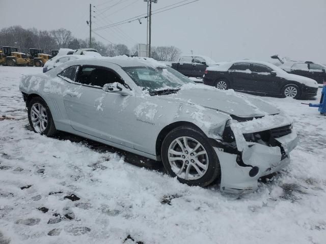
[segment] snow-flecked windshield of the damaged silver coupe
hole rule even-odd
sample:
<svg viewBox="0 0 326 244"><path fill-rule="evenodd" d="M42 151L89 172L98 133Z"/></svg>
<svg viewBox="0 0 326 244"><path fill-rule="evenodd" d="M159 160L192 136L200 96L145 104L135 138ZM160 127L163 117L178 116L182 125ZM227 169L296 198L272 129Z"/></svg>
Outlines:
<svg viewBox="0 0 326 244"><path fill-rule="evenodd" d="M142 89L154 93L158 90L177 90L186 83L194 83L171 67L126 67L123 70Z"/></svg>

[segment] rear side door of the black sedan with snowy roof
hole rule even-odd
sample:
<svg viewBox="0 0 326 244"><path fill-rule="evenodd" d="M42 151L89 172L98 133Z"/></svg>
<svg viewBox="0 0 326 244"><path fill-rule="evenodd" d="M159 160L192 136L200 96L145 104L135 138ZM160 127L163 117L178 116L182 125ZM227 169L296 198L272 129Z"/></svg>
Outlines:
<svg viewBox="0 0 326 244"><path fill-rule="evenodd" d="M235 63L228 70L230 87L236 90L251 90L254 80L251 77L250 63Z"/></svg>

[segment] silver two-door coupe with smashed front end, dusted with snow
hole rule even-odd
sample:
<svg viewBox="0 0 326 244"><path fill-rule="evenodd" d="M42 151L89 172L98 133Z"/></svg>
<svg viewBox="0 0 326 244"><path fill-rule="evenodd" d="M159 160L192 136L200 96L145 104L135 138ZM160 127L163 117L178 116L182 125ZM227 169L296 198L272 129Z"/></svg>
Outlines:
<svg viewBox="0 0 326 244"><path fill-rule="evenodd" d="M58 130L162 162L192 186L257 189L290 162L297 137L277 108L195 84L153 59L77 59L20 82L33 130Z"/></svg>

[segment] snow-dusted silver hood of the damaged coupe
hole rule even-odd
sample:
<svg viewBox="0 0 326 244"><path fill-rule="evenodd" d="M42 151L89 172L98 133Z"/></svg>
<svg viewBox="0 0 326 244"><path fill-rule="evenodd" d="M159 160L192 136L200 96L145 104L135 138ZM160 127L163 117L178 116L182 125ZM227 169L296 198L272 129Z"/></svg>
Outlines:
<svg viewBox="0 0 326 244"><path fill-rule="evenodd" d="M233 117L236 116L239 119L262 117L280 112L279 109L265 103L259 98L242 95L234 92L234 90L219 90L217 88L206 88L203 86L192 85L193 88L182 87L177 94L169 97L222 111L233 115Z"/></svg>

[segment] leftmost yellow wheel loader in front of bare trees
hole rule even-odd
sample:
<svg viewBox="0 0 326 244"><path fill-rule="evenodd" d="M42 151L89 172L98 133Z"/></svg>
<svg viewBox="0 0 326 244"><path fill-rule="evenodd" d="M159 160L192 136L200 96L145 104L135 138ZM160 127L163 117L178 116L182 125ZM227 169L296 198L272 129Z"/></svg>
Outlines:
<svg viewBox="0 0 326 244"><path fill-rule="evenodd" d="M18 52L17 47L5 46L0 52L0 65L8 66L26 66L30 63L30 59L25 53Z"/></svg>

